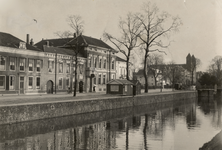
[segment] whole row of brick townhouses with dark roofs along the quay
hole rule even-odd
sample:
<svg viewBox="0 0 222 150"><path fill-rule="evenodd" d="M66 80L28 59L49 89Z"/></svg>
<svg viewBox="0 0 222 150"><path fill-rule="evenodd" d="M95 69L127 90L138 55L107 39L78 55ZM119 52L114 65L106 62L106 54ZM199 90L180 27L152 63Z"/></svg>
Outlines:
<svg viewBox="0 0 222 150"><path fill-rule="evenodd" d="M79 35L47 39L35 45L0 32L0 94L65 92L74 82L73 46L79 42L77 91L106 91L106 83L124 75L117 51L100 39ZM69 43L69 44L67 44ZM125 62L124 62L125 63ZM71 81L72 80L72 81Z"/></svg>

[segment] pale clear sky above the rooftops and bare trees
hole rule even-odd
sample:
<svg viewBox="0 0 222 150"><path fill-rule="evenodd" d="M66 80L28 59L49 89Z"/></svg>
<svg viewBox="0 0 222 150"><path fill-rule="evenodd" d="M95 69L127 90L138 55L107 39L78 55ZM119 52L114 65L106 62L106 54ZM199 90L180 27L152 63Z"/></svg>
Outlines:
<svg viewBox="0 0 222 150"><path fill-rule="evenodd" d="M106 31L118 37L119 18L124 18L128 12L142 12L144 2L147 0L0 0L0 32L24 41L29 34L37 43L42 39L58 38L54 34L57 31L71 30L67 17L80 15L84 21L84 35L102 39ZM190 53L202 62L198 70L206 71L215 56L222 56L221 0L151 2L160 12L179 16L183 22L179 32L169 39L174 42L165 49L165 60L183 64Z"/></svg>

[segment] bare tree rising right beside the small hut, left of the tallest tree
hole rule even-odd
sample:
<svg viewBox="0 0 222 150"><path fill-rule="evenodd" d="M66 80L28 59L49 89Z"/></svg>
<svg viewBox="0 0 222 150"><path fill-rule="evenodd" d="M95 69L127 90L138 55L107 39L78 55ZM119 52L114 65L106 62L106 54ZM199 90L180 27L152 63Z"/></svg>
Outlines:
<svg viewBox="0 0 222 150"><path fill-rule="evenodd" d="M120 18L119 30L121 37L117 38L111 34L104 32L103 37L105 40L109 40L116 48L126 57L126 78L129 80L129 60L132 50L137 45L137 37L140 33L140 24L135 19L132 13L128 13L126 19Z"/></svg>

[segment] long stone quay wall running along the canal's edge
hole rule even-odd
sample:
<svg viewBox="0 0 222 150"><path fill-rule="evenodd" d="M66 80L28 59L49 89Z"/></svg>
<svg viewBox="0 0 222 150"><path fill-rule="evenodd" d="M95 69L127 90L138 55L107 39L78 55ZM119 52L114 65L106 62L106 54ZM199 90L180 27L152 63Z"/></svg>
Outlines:
<svg viewBox="0 0 222 150"><path fill-rule="evenodd" d="M91 113L168 101L196 98L197 93L161 93L152 95L119 96L114 98L97 98L81 101L61 101L26 105L0 107L0 125L33 121L75 114Z"/></svg>

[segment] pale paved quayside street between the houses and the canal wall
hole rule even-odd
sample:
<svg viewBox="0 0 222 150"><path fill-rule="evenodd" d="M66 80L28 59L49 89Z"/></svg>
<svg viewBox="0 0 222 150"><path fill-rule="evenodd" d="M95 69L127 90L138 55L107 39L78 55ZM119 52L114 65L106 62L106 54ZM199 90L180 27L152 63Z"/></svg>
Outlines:
<svg viewBox="0 0 222 150"><path fill-rule="evenodd" d="M152 95L152 94L166 94L166 93L178 93L186 91L172 91L172 89L160 89L149 90L148 93L144 93L142 90L142 95ZM189 91L187 91L189 92ZM97 93L77 93L76 97L72 94L58 93L58 94L37 94L37 95L5 95L0 96L0 106L13 106L13 105L28 105L28 104L38 104L38 103L50 103L50 102L63 102L63 101L83 101L89 99L98 98L114 98L121 97L121 95L111 95L105 92Z"/></svg>

